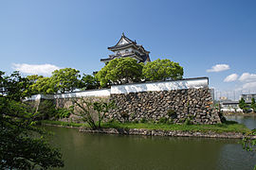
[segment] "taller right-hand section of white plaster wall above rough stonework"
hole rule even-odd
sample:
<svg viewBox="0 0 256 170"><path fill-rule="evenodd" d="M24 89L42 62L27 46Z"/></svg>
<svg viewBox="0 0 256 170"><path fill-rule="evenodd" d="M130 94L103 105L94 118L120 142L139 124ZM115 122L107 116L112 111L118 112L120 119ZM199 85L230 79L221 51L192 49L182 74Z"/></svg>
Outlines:
<svg viewBox="0 0 256 170"><path fill-rule="evenodd" d="M208 78L196 78L178 81L162 81L151 83L137 83L131 85L111 86L111 93L138 93L149 91L172 91L180 89L199 89L208 87Z"/></svg>

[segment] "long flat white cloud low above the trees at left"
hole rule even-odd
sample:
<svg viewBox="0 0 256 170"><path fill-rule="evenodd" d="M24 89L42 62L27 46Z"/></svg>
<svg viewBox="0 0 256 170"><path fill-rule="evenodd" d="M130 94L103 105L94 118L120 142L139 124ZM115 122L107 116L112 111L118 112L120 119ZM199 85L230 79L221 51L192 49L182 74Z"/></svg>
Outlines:
<svg viewBox="0 0 256 170"><path fill-rule="evenodd" d="M28 75L50 76L51 72L59 70L60 67L52 64L12 63L12 69Z"/></svg>

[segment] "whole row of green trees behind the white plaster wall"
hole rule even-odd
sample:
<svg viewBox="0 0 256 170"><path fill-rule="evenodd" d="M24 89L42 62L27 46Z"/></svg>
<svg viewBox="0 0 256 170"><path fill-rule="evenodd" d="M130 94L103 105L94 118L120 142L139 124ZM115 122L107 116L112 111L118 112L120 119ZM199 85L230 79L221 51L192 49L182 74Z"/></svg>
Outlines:
<svg viewBox="0 0 256 170"><path fill-rule="evenodd" d="M91 90L115 84L144 80L176 80L183 76L183 67L170 59L156 59L152 62L137 63L137 59L120 58L110 60L95 76L64 68L52 72L52 76L27 76L30 93L66 93L75 89Z"/></svg>

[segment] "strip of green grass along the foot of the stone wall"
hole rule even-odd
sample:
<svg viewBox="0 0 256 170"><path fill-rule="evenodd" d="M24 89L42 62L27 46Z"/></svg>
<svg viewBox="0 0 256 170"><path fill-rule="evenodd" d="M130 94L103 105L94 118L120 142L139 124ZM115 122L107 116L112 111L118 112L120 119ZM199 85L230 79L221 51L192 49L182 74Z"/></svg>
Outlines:
<svg viewBox="0 0 256 170"><path fill-rule="evenodd" d="M60 125L65 127L89 127L87 124L76 124L60 121L42 121L43 124ZM159 130L180 130L180 131L192 131L192 132L241 132L247 133L250 131L245 125L237 124L234 121L227 121L224 124L217 125L167 125L167 124L149 124L149 123L104 123L102 127L113 127L113 128L144 128L144 129L159 129Z"/></svg>

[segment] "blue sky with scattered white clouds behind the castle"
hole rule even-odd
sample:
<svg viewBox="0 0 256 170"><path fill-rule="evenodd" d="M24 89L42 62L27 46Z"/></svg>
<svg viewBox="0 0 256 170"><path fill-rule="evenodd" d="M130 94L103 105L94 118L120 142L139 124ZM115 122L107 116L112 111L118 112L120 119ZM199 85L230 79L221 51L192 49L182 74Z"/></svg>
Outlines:
<svg viewBox="0 0 256 170"><path fill-rule="evenodd" d="M2 0L0 70L27 76L71 67L91 74L124 32L152 60L179 62L184 77L209 76L216 91L252 92L255 8L255 0Z"/></svg>

